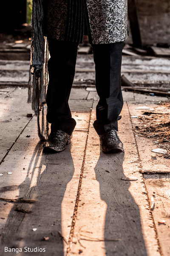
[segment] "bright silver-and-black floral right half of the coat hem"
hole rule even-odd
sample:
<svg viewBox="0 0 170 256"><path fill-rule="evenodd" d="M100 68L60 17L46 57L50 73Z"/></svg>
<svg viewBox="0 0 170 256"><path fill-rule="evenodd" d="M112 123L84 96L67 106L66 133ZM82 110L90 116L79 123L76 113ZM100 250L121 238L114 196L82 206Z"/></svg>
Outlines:
<svg viewBox="0 0 170 256"><path fill-rule="evenodd" d="M87 0L94 44L127 39L127 0Z"/></svg>

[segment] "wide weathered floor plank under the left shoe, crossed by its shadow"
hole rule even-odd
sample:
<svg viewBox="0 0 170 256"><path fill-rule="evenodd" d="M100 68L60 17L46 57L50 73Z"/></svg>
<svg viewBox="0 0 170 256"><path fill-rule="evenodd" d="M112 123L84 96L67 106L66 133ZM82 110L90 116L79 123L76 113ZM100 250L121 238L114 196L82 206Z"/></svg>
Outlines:
<svg viewBox="0 0 170 256"><path fill-rule="evenodd" d="M82 102L83 104L83 102ZM32 204L0 201L1 255L7 247L41 247L47 255L66 252L90 112L75 112L77 127L72 143L58 154L43 154L36 118L28 124L0 166L1 198L30 198ZM7 174L12 172L12 175ZM5 204L4 204L5 203ZM24 212L23 212L24 211ZM37 228L33 231L33 228ZM61 236L66 242L62 241ZM43 237L49 237L44 241ZM29 253L24 253L28 254ZM41 255L42 253L31 253Z"/></svg>

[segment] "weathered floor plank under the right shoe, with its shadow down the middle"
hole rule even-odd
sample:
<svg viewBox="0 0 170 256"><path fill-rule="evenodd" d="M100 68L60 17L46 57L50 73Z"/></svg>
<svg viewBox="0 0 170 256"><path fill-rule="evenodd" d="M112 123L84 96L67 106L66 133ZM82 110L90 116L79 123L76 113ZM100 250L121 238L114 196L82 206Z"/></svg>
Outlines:
<svg viewBox="0 0 170 256"><path fill-rule="evenodd" d="M125 155L107 155L92 126L93 110L70 256L160 256L126 105L122 115ZM123 181L122 176L138 180Z"/></svg>

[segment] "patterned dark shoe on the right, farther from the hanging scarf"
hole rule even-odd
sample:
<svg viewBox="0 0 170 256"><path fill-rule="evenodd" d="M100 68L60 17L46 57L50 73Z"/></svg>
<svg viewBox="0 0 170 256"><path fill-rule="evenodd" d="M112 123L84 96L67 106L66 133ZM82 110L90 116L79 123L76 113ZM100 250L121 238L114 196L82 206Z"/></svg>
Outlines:
<svg viewBox="0 0 170 256"><path fill-rule="evenodd" d="M124 151L123 143L120 141L117 132L111 129L109 132L99 135L102 152L114 153Z"/></svg>

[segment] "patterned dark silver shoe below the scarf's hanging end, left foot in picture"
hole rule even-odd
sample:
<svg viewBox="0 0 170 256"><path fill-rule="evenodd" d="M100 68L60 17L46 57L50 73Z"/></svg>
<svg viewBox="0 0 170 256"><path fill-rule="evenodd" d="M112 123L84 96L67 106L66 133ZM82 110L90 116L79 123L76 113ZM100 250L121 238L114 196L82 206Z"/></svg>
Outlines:
<svg viewBox="0 0 170 256"><path fill-rule="evenodd" d="M71 143L71 135L61 130L51 132L48 141L44 145L43 152L53 153L65 150L65 146Z"/></svg>

